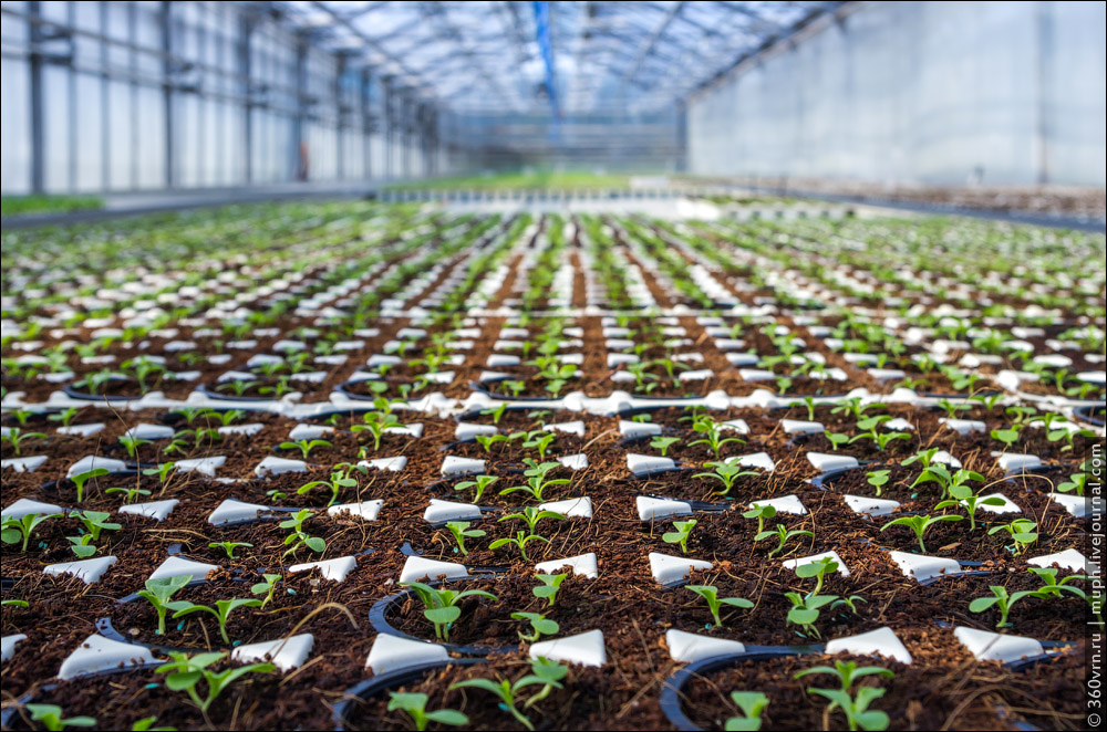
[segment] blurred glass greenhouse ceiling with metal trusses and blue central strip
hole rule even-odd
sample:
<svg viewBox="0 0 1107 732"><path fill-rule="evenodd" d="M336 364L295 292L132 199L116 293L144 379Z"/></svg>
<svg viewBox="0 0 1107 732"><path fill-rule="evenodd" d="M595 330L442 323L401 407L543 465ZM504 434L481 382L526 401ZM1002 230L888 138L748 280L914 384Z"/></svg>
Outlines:
<svg viewBox="0 0 1107 732"><path fill-rule="evenodd" d="M841 2L271 3L443 108L646 114Z"/></svg>

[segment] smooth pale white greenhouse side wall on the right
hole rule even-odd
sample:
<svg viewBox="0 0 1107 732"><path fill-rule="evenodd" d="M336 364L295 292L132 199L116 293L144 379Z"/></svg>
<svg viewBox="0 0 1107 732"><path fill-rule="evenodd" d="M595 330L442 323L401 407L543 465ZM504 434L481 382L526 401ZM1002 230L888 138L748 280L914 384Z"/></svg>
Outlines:
<svg viewBox="0 0 1107 732"><path fill-rule="evenodd" d="M865 2L689 105L694 174L1105 185L1104 2Z"/></svg>

